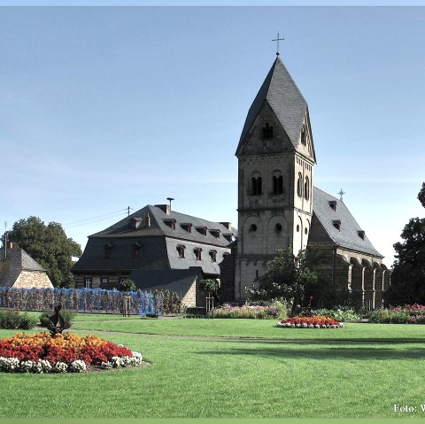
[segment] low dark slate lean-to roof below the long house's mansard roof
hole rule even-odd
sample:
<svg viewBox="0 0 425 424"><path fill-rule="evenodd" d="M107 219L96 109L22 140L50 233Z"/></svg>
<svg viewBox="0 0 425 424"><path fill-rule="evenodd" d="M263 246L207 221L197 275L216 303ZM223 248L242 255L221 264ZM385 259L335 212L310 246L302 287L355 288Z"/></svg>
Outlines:
<svg viewBox="0 0 425 424"><path fill-rule="evenodd" d="M182 293L188 292L197 276L202 273L202 269L137 269L128 278L135 281L137 289L141 290L170 290ZM160 281L158 283L158 281Z"/></svg>

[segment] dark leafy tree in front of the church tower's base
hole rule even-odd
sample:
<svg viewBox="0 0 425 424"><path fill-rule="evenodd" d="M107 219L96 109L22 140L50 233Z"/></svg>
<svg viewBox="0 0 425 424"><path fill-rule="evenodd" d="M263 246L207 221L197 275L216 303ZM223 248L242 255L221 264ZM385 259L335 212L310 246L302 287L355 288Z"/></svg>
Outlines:
<svg viewBox="0 0 425 424"><path fill-rule="evenodd" d="M258 284L247 289L254 300L284 298L292 305L324 305L330 301L330 283L317 271L320 258L315 251L300 251L297 256L289 247L278 249L277 255L259 277Z"/></svg>

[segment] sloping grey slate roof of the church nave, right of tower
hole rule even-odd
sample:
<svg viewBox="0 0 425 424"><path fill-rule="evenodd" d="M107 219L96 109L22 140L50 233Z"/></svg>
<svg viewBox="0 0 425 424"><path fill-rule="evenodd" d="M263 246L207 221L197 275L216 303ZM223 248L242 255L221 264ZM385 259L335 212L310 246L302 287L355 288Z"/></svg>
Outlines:
<svg viewBox="0 0 425 424"><path fill-rule="evenodd" d="M335 211L331 204L335 205ZM313 188L313 220L308 245L341 246L383 258L364 232L363 238L360 236L362 231L343 201L321 189Z"/></svg>

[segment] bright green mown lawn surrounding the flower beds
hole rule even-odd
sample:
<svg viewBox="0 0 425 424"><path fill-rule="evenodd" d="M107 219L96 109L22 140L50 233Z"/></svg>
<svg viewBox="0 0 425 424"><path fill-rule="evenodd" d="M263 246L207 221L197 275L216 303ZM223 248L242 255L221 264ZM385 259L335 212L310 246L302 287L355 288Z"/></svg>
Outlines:
<svg viewBox="0 0 425 424"><path fill-rule="evenodd" d="M79 315L73 328L112 332L99 335L141 351L151 367L82 375L2 374L0 417L425 415L420 406L425 404L425 326L348 323L316 330L274 328L274 320L91 317ZM0 331L2 337L11 334ZM418 412L406 417L393 412L394 404L415 405Z"/></svg>

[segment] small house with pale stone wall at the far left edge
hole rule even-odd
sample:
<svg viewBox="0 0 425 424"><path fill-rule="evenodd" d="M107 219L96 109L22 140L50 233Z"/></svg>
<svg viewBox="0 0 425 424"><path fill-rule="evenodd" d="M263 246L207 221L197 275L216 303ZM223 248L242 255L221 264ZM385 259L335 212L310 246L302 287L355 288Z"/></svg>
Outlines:
<svg viewBox="0 0 425 424"><path fill-rule="evenodd" d="M52 289L53 285L47 271L35 259L8 243L8 247L1 251L0 287Z"/></svg>

